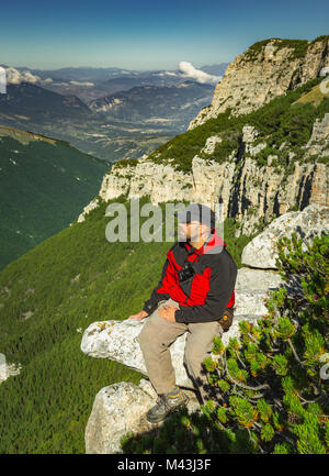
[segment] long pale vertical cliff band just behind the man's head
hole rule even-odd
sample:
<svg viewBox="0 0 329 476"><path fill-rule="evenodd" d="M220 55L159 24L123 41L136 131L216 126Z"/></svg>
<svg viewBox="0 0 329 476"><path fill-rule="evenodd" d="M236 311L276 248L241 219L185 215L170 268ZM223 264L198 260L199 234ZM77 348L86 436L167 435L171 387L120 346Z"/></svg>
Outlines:
<svg viewBox="0 0 329 476"><path fill-rule="evenodd" d="M329 114L317 121L306 154L329 155ZM292 174L272 165L274 156L260 167L256 154L264 144L254 144L258 131L245 125L239 158L231 155L222 164L201 158L192 160L191 173L177 170L171 160L156 164L147 157L134 165L117 164L103 177L100 197L107 201L127 193L128 198L150 196L154 203L186 200L214 207L223 200L224 217L234 217L241 223L237 234L251 234L262 222L285 213L292 208L303 210L309 203L329 207L328 166L325 163L294 163ZM200 151L212 153L218 136L208 137ZM315 151L316 147L316 151ZM78 221L97 207L97 200L86 207Z"/></svg>

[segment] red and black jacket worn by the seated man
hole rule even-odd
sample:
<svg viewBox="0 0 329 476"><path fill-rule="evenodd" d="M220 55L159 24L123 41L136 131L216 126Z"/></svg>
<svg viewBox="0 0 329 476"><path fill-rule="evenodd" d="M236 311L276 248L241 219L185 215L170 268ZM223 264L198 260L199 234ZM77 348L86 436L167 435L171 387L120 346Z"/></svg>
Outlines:
<svg viewBox="0 0 329 476"><path fill-rule="evenodd" d="M194 248L188 242L175 242L167 253L161 279L150 299L145 302L144 310L150 314L160 300L171 298L180 305L175 311L177 322L222 319L225 309L235 305L234 288L237 278L237 265L225 246L226 243L216 231L202 250ZM178 270L188 261L195 261L195 274L180 283Z"/></svg>

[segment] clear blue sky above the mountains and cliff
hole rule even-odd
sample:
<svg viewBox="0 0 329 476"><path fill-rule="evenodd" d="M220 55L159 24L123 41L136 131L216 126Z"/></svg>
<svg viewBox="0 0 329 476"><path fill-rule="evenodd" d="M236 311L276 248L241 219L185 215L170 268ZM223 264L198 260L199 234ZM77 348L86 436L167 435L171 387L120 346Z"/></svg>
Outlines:
<svg viewBox="0 0 329 476"><path fill-rule="evenodd" d="M328 0L18 0L0 7L0 64L175 69L254 42L329 34Z"/></svg>

